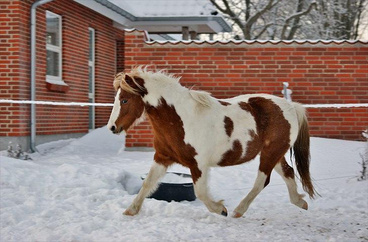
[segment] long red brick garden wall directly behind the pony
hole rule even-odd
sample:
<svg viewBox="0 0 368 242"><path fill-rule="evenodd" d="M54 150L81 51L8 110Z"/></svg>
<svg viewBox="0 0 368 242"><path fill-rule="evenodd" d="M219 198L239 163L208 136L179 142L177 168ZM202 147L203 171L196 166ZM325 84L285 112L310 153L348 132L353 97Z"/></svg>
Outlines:
<svg viewBox="0 0 368 242"><path fill-rule="evenodd" d="M246 93L281 96L289 82L303 104L368 103L368 47L363 43L197 44L144 43L144 33L125 33L125 68L153 64L182 76L181 83L216 98ZM313 136L359 139L366 108L308 109ZM126 147L152 147L146 121L130 130Z"/></svg>

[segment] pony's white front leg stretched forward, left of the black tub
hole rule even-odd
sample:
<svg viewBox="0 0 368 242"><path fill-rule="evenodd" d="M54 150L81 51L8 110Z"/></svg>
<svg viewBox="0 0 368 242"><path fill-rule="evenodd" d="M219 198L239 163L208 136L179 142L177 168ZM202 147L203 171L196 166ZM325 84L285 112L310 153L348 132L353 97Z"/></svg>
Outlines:
<svg viewBox="0 0 368 242"><path fill-rule="evenodd" d="M154 161L148 175L143 182L143 186L135 197L133 203L124 211L124 215L136 215L142 207L145 198L150 196L156 189L158 181L166 174L167 166Z"/></svg>

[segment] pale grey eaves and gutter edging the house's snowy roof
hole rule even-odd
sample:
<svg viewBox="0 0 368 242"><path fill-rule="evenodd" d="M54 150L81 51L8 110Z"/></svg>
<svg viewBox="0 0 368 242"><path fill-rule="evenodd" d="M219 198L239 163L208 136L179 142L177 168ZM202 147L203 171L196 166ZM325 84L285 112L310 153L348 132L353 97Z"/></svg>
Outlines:
<svg viewBox="0 0 368 242"><path fill-rule="evenodd" d="M75 2L100 13L115 22L115 26L139 28L150 33L181 33L182 26L197 33L229 32L231 26L222 16L169 16L169 17L135 17L106 0L74 0Z"/></svg>

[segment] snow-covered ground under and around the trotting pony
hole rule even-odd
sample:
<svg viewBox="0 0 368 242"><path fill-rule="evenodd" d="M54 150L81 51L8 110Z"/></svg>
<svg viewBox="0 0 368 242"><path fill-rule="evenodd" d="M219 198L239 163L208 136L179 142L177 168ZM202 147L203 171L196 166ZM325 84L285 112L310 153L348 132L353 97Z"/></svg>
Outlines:
<svg viewBox="0 0 368 242"><path fill-rule="evenodd" d="M153 152L123 151L106 127L79 139L42 144L32 161L0 157L0 240L244 241L368 240L367 181L357 181L365 142L311 138L311 174L322 196L308 211L289 202L281 177L241 219L212 214L199 201L146 199L123 216L153 162ZM290 159L287 159L290 163ZM253 186L259 160L213 168L210 187L229 211ZM169 171L189 173L184 167ZM299 191L302 191L299 185Z"/></svg>

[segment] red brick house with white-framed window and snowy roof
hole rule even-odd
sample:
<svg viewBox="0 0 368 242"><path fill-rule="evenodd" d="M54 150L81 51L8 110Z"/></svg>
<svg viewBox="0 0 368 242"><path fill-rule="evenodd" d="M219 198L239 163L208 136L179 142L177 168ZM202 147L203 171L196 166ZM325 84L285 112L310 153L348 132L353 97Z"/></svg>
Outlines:
<svg viewBox="0 0 368 242"><path fill-rule="evenodd" d="M146 2L145 8L140 6L145 12L140 13L135 1L1 1L0 99L31 100L35 83L37 101L112 103L113 76L125 68L125 43L131 42L125 39L124 28L139 27L155 39L173 39L172 33L194 39L197 33L231 30L221 16L211 15L209 1L182 2L187 6L176 12L175 1ZM30 54L32 5L39 5L35 10L34 65ZM170 11L160 13L160 5ZM135 48L143 45L142 41ZM104 126L111 111L109 107L33 106L34 144L79 137ZM30 105L1 104L0 112L0 150L6 149L9 141L30 147Z"/></svg>

